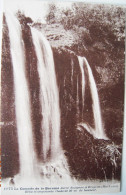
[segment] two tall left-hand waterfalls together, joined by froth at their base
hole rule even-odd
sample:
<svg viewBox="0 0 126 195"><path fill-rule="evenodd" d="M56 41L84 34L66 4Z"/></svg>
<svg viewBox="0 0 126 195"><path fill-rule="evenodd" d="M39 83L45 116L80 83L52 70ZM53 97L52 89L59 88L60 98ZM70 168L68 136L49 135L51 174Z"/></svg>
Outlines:
<svg viewBox="0 0 126 195"><path fill-rule="evenodd" d="M44 179L70 179L67 160L60 140L59 92L54 67L53 53L49 42L42 33L30 27L33 47L37 59L39 77L39 102L41 106L41 127L38 134L41 140L41 156L37 158L35 132L32 120L30 80L26 72L26 54L23 30L16 16L6 14L10 38L10 53L14 75L16 126L19 146L19 174L15 182ZM33 49L33 48L32 48ZM32 74L32 69L30 69ZM34 100L33 100L34 101ZM38 136L39 136L38 135ZM47 176L48 175L48 176ZM30 178L30 179L29 179ZM64 178L64 179L63 179Z"/></svg>

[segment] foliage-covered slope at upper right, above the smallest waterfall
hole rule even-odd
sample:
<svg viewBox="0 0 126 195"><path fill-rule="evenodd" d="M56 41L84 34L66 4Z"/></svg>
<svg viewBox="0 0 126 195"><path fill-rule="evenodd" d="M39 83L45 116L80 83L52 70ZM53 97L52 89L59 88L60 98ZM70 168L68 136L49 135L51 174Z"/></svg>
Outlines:
<svg viewBox="0 0 126 195"><path fill-rule="evenodd" d="M50 15L53 15L53 20L49 19ZM108 81L113 83L124 81L125 12L123 8L84 3L73 3L69 7L59 8L55 4L49 8L47 22L57 23L66 32L71 32L74 41L70 50L77 55L85 56L90 65L104 67L104 70L109 72ZM103 79L102 73L100 79L100 81Z"/></svg>

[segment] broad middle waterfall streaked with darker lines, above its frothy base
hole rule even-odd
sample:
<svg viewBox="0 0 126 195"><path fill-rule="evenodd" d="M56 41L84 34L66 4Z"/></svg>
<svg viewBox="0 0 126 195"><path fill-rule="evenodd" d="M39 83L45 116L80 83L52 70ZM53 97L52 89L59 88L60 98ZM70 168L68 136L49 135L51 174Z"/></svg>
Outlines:
<svg viewBox="0 0 126 195"><path fill-rule="evenodd" d="M58 87L51 47L40 31L31 28L31 32L38 59L37 67L40 78L42 153L44 161L47 161L48 155L54 159L61 152Z"/></svg>

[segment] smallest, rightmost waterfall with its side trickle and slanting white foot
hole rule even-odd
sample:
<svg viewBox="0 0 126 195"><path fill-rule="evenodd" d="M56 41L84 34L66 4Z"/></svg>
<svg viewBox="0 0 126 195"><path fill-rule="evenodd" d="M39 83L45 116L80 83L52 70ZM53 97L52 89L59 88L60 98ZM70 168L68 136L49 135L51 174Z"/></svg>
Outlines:
<svg viewBox="0 0 126 195"><path fill-rule="evenodd" d="M87 125L85 123L80 123L79 126L84 127L89 133L93 134L93 136L98 139L107 139L103 128L98 91L97 91L92 70L86 58L79 56L78 60L79 60L79 66L81 68L82 75L84 75L84 67L87 68L89 85L90 85L89 87L92 96L92 110L94 116L95 129L93 129L89 124ZM84 107L84 90L85 90L85 78L84 76L82 76L82 100L83 100L82 107Z"/></svg>

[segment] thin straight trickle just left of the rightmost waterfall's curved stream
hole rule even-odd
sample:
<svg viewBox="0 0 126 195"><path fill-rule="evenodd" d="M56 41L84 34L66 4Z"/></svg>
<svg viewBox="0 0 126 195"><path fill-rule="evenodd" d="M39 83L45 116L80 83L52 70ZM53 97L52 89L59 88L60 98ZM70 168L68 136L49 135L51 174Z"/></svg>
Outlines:
<svg viewBox="0 0 126 195"><path fill-rule="evenodd" d="M84 76L84 59L81 56L78 56L79 66L82 75L82 116L84 110L84 94L85 94L85 76Z"/></svg>

